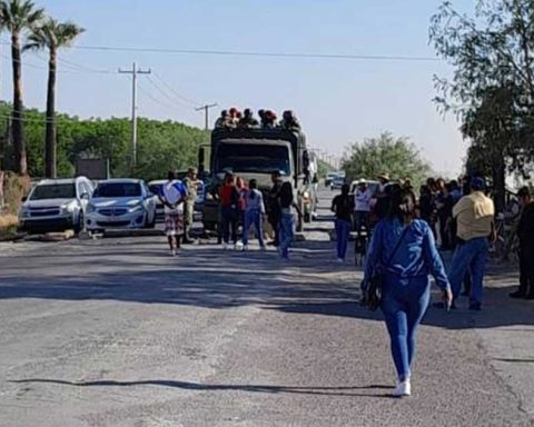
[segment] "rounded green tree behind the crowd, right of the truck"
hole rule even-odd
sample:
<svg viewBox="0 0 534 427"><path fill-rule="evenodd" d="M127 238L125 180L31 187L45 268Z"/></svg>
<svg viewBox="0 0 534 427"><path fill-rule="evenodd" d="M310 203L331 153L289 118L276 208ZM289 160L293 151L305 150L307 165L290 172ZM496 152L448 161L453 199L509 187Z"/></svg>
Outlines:
<svg viewBox="0 0 534 427"><path fill-rule="evenodd" d="M350 180L374 179L379 173L388 173L393 179L409 178L416 188L432 172L407 138L395 138L389 132L350 146L343 169Z"/></svg>

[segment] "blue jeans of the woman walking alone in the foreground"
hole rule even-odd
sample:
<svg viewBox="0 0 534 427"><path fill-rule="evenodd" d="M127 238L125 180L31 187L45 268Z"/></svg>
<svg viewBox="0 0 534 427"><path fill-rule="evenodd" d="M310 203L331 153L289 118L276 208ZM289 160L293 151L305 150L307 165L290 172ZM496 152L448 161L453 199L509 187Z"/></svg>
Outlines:
<svg viewBox="0 0 534 427"><path fill-rule="evenodd" d="M386 319L399 381L411 375L417 327L425 316L429 300L431 285L427 276L400 278L386 275L380 308Z"/></svg>

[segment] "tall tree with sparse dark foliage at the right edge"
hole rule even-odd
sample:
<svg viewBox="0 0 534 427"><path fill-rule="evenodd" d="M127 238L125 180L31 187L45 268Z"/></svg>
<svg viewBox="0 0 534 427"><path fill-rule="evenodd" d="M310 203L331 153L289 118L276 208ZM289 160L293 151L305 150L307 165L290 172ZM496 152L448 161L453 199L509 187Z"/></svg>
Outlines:
<svg viewBox="0 0 534 427"><path fill-rule="evenodd" d="M431 41L454 68L435 77L435 100L462 121L468 172L491 173L498 210L506 172L523 172L534 156L533 28L534 3L521 0L479 0L473 17L447 1L432 18Z"/></svg>

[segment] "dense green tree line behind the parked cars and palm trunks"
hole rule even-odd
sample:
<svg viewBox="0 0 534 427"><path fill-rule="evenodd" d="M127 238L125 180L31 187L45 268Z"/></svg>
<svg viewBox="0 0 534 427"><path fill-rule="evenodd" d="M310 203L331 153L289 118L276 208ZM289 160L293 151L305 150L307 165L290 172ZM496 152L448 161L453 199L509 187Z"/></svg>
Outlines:
<svg viewBox="0 0 534 427"><path fill-rule="evenodd" d="M16 168L14 147L9 140L11 105L0 103L0 140L3 141L4 169ZM28 173L46 177L43 135L46 113L24 112ZM57 115L57 175L71 177L77 158L109 158L112 177L131 175L131 122L129 119L81 120ZM197 165L198 148L209 139L208 132L176 121L138 119L138 163L135 176L146 180L162 179L167 170Z"/></svg>

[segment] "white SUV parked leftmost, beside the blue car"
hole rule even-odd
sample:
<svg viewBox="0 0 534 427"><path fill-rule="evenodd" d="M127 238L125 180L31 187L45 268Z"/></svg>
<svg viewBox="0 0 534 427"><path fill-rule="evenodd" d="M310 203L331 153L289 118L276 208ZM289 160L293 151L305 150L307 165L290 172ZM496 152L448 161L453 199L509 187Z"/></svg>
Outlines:
<svg viewBox="0 0 534 427"><path fill-rule="evenodd" d="M79 232L92 191L91 181L85 177L37 182L20 209L20 228L29 232Z"/></svg>

